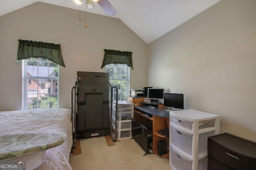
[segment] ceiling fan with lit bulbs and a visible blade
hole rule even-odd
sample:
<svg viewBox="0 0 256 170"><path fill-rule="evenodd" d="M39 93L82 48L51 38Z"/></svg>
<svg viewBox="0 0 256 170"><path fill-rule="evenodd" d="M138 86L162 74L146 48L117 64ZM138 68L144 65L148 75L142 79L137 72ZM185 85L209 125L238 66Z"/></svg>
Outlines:
<svg viewBox="0 0 256 170"><path fill-rule="evenodd" d="M76 4L82 4L82 0L73 0ZM112 5L108 2L108 0L86 0L86 6L90 9L93 8L94 2L98 2L101 8L106 12L108 16L112 16L116 14L116 10L112 7Z"/></svg>

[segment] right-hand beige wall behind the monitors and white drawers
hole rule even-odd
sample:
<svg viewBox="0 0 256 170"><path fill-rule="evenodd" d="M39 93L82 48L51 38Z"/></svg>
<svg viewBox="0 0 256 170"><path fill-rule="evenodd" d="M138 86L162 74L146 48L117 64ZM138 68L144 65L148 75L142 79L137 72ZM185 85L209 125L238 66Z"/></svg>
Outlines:
<svg viewBox="0 0 256 170"><path fill-rule="evenodd" d="M256 141L256 1L222 0L149 45L148 85Z"/></svg>

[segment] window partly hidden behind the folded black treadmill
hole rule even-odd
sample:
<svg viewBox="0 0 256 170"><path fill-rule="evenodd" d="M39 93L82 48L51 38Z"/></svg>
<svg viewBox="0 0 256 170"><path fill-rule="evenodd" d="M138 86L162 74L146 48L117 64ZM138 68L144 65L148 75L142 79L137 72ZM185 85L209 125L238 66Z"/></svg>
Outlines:
<svg viewBox="0 0 256 170"><path fill-rule="evenodd" d="M126 64L107 64L110 83L118 88L118 100L126 100L129 92L129 67ZM116 95L114 100L116 100Z"/></svg>

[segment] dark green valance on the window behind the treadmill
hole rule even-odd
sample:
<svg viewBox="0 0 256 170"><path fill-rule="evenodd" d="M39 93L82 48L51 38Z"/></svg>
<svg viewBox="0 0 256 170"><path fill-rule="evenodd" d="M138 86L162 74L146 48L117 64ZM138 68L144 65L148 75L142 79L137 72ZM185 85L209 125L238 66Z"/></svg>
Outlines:
<svg viewBox="0 0 256 170"><path fill-rule="evenodd" d="M116 51L116 50L107 50L104 49L104 59L101 65L103 68L107 64L126 64L127 66L132 67L132 52L129 51Z"/></svg>

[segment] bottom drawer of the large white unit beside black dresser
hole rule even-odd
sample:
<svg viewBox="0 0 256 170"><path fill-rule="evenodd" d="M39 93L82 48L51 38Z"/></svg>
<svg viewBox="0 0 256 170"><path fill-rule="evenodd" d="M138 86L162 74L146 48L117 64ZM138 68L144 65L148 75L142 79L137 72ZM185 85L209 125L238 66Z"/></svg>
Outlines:
<svg viewBox="0 0 256 170"><path fill-rule="evenodd" d="M192 162L193 160L170 147L170 166L173 170L192 170ZM198 170L207 170L206 156L198 160Z"/></svg>

